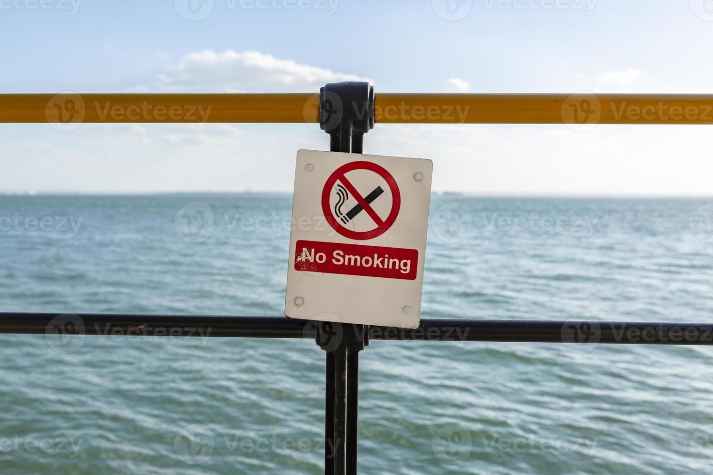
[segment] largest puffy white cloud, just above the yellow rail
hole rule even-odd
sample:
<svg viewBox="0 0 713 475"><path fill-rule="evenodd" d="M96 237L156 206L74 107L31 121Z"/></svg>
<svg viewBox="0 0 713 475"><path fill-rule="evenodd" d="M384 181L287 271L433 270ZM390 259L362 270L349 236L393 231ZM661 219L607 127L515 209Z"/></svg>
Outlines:
<svg viewBox="0 0 713 475"><path fill-rule="evenodd" d="M326 83L367 80L358 75L278 59L258 51L190 53L159 76L163 90L317 90Z"/></svg>

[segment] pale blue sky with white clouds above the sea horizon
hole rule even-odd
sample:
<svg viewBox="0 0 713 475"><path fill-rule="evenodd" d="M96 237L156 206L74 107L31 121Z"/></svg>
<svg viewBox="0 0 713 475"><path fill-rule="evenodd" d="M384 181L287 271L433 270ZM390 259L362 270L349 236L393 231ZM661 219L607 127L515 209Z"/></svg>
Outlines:
<svg viewBox="0 0 713 475"><path fill-rule="evenodd" d="M713 1L0 0L0 93L712 93ZM386 125L435 191L711 195L701 125ZM2 192L290 192L315 124L0 124Z"/></svg>

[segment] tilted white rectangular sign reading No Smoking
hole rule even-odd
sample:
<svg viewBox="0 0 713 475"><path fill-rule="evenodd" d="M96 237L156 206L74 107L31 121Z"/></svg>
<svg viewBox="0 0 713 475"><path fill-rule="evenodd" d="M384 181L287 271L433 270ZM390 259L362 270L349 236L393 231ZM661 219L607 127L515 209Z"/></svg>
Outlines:
<svg viewBox="0 0 713 475"><path fill-rule="evenodd" d="M297 152L284 315L418 327L433 167Z"/></svg>

